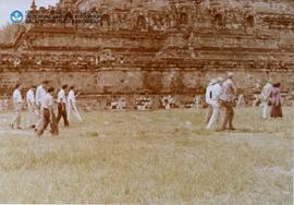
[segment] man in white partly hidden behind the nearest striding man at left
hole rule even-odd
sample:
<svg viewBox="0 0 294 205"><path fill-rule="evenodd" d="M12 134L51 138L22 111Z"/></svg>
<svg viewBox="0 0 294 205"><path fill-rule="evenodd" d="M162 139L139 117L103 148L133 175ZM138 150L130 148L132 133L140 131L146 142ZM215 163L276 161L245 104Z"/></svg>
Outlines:
<svg viewBox="0 0 294 205"><path fill-rule="evenodd" d="M42 100L47 94L48 85L49 85L49 81L42 81L36 91L36 105L37 105L38 113L39 113L37 119L36 119L36 130L39 130L42 126L41 104L42 104Z"/></svg>

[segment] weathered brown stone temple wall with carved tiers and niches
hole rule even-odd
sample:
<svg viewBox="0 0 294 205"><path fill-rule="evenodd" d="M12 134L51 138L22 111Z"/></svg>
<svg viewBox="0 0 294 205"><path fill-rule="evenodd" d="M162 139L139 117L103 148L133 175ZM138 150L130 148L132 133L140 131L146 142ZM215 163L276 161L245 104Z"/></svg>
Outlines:
<svg viewBox="0 0 294 205"><path fill-rule="evenodd" d="M88 11L97 24L78 24ZM83 89L84 98L203 95L209 80L235 72L240 93L268 79L293 89L294 3L291 0L61 1L28 15L60 23L26 23L0 33L0 96L16 82L52 80ZM157 99L158 101L158 99Z"/></svg>

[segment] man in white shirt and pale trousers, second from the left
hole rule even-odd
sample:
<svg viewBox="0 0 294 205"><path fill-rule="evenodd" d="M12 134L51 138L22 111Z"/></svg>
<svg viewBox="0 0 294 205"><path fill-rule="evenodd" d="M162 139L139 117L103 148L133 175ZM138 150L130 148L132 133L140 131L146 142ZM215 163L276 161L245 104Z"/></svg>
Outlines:
<svg viewBox="0 0 294 205"><path fill-rule="evenodd" d="M36 86L32 86L30 89L26 93L26 102L27 102L27 125L28 128L36 128L36 119L38 118L38 111L35 100Z"/></svg>

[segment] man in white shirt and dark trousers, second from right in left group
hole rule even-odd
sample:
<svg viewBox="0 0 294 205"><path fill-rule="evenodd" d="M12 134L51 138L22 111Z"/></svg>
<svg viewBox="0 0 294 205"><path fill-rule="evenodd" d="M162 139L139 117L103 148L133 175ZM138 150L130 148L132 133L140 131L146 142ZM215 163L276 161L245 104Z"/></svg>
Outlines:
<svg viewBox="0 0 294 205"><path fill-rule="evenodd" d="M58 93L58 117L57 122L59 123L61 117L64 121L64 126L70 126L69 120L68 120L68 108L66 108L66 89L69 85L63 85L62 88Z"/></svg>

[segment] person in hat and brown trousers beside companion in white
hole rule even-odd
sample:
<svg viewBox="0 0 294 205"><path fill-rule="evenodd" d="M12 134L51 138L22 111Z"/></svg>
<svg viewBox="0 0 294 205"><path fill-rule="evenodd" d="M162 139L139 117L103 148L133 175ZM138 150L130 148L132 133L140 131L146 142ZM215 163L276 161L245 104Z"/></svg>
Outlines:
<svg viewBox="0 0 294 205"><path fill-rule="evenodd" d="M221 87L221 95L219 97L221 108L224 110L223 122L221 131L235 130L233 126L236 87L233 83L233 73L228 73L228 79L223 82Z"/></svg>

